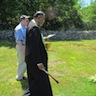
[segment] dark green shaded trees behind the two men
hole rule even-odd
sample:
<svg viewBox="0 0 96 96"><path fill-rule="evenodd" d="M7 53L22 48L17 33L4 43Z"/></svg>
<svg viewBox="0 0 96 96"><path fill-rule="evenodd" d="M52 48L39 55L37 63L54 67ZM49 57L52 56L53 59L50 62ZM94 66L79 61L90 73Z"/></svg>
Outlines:
<svg viewBox="0 0 96 96"><path fill-rule="evenodd" d="M75 5L78 0L1 0L0 2L0 29L14 29L19 23L20 15L33 16L37 10L45 13L48 8L56 9L56 18L47 18L45 29L82 28L83 22Z"/></svg>

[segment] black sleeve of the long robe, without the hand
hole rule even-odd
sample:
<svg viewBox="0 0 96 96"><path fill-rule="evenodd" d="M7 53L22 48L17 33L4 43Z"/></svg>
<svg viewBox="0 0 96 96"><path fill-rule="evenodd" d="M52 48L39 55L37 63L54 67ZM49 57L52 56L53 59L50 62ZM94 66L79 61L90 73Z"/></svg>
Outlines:
<svg viewBox="0 0 96 96"><path fill-rule="evenodd" d="M42 50L42 38L39 28L34 27L29 34L29 46L30 52L35 64L42 63L41 50Z"/></svg>

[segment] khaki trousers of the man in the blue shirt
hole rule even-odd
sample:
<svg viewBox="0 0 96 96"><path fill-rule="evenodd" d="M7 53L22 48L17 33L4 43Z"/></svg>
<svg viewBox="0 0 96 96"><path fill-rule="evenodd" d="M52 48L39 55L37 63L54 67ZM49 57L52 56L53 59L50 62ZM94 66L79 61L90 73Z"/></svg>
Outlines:
<svg viewBox="0 0 96 96"><path fill-rule="evenodd" d="M22 54L22 50L16 45L16 50L17 50L17 57L18 57L18 67L17 67L17 75L16 79L22 79L24 76L24 73L26 71L26 63L25 63L25 57Z"/></svg>

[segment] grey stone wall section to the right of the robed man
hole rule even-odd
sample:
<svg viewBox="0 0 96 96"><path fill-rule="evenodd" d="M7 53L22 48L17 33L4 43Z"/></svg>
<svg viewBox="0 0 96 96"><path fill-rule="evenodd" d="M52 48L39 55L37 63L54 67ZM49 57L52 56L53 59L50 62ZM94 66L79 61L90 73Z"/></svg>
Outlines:
<svg viewBox="0 0 96 96"><path fill-rule="evenodd" d="M96 31L45 31L45 36L48 34L56 34L52 40L82 40L96 39Z"/></svg>

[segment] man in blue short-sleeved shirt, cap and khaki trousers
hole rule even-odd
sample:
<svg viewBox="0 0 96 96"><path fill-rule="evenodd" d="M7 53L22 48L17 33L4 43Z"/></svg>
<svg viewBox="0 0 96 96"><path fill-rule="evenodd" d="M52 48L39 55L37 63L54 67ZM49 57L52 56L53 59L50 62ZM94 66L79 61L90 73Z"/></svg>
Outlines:
<svg viewBox="0 0 96 96"><path fill-rule="evenodd" d="M21 22L15 28L15 39L16 39L16 50L18 57L18 68L16 80L25 80L24 73L26 71L25 63L25 39L26 39L26 28L29 23L29 16L22 15L20 17Z"/></svg>

